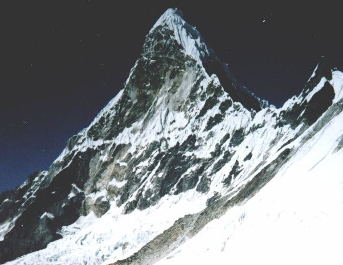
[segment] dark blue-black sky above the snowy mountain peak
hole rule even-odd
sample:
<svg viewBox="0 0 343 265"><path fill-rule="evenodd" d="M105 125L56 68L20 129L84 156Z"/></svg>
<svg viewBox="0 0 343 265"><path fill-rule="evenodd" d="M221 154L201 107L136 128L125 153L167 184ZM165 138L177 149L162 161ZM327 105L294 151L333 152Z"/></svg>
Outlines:
<svg viewBox="0 0 343 265"><path fill-rule="evenodd" d="M92 122L169 7L184 12L240 83L277 106L301 91L321 55L342 68L341 9L223 2L2 1L0 192L47 170Z"/></svg>

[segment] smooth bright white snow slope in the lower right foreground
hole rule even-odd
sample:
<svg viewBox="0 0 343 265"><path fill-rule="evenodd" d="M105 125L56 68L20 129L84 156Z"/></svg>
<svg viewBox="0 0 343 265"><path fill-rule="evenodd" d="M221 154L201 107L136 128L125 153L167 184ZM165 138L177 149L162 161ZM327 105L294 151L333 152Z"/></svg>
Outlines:
<svg viewBox="0 0 343 265"><path fill-rule="evenodd" d="M341 112L256 196L156 264L341 264L343 149L337 145L342 121ZM313 130L315 126L307 133Z"/></svg>

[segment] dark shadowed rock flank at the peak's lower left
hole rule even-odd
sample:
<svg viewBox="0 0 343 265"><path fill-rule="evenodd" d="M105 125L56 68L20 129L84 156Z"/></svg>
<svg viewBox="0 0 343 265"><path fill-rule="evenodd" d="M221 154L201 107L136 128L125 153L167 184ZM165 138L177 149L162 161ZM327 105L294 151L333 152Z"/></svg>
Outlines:
<svg viewBox="0 0 343 265"><path fill-rule="evenodd" d="M22 209L19 209L21 213L19 212L14 227L0 242L1 261L45 248L51 241L60 238L57 233L60 227L74 223L79 218L85 196L80 192L68 199L68 194L72 190L72 183L84 183L91 153L88 151L80 154L48 187L38 186L38 190L32 195L34 197L25 201ZM39 177L43 178L44 175L38 175L36 178ZM52 214L53 218L44 217L44 212Z"/></svg>

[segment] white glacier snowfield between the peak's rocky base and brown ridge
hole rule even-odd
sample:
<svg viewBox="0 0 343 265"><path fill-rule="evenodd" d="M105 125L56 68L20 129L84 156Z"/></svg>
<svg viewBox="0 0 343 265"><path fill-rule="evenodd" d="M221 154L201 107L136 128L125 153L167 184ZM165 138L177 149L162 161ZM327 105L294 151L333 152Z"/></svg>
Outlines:
<svg viewBox="0 0 343 265"><path fill-rule="evenodd" d="M205 202L205 196L189 191L131 214L122 214L122 208L117 207L111 207L101 218L91 212L63 227L62 239L5 264L102 264L126 258L176 219L201 210Z"/></svg>

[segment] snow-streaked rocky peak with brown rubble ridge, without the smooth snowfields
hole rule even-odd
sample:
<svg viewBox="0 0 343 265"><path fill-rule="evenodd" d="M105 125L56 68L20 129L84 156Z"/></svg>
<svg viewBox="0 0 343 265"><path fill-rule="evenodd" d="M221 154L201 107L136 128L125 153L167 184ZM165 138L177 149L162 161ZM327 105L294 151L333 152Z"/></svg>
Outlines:
<svg viewBox="0 0 343 265"><path fill-rule="evenodd" d="M179 11L167 14L147 35L124 89L68 140L49 171L0 195L0 262L47 247L90 212L130 214L190 190L207 196L201 212L116 262L152 264L256 194L296 152L288 144L341 110L341 102L331 106L324 59L299 97L276 110L238 84Z"/></svg>

